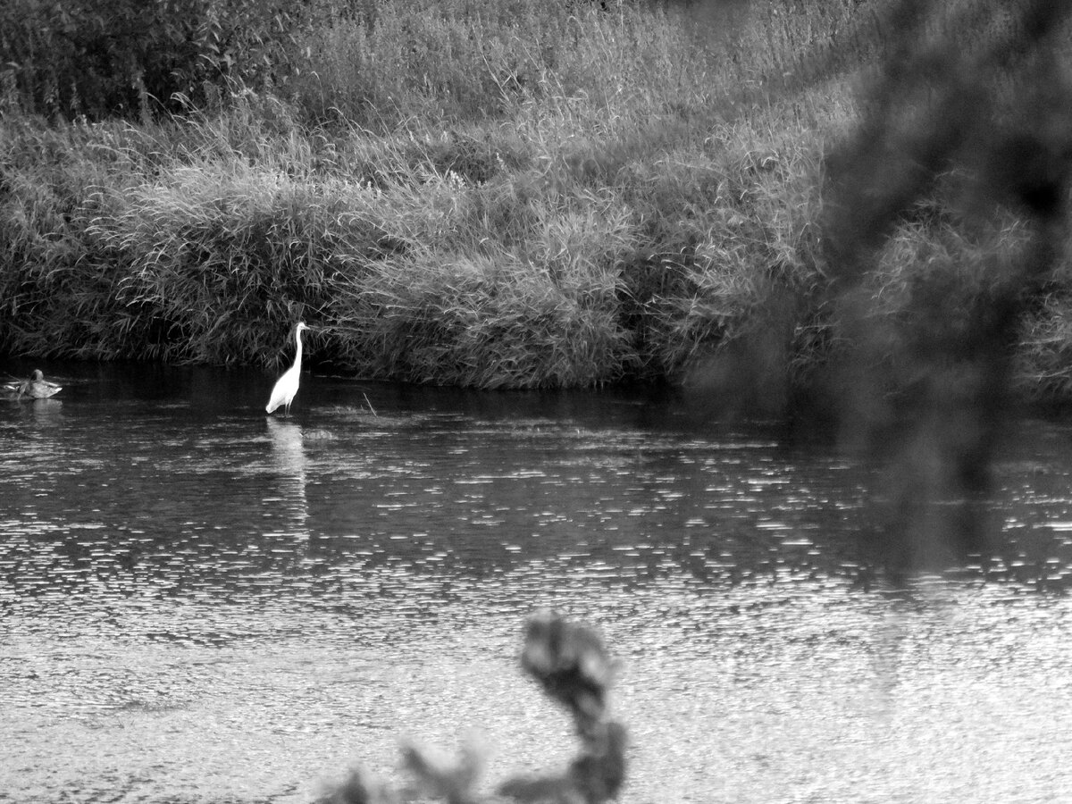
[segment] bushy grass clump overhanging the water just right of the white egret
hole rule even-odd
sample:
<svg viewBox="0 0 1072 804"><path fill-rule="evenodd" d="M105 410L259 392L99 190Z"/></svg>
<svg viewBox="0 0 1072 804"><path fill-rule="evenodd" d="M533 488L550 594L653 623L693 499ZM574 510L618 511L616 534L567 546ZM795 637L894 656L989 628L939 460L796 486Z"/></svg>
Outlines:
<svg viewBox="0 0 1072 804"><path fill-rule="evenodd" d="M616 321L627 212L609 197L550 207L500 182L459 197L462 183L430 177L381 196L381 209L398 204L400 214L436 217L422 219L419 232L411 228L417 221L383 220L396 251L369 260L359 283L338 277L333 333L363 349L346 356L343 345L341 359L374 376L483 387L622 377L631 355ZM498 236L501 215L523 220L523 240Z"/></svg>

